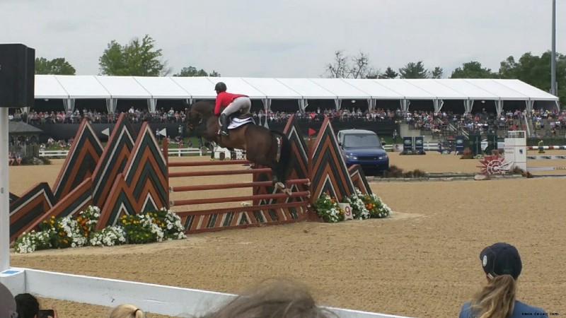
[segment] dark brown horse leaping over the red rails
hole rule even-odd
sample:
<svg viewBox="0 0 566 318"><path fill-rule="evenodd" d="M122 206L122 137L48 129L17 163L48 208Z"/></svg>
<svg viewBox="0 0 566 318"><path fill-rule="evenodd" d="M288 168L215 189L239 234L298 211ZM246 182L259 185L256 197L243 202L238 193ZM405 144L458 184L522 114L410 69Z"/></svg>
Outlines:
<svg viewBox="0 0 566 318"><path fill-rule="evenodd" d="M221 136L219 117L214 114L214 104L206 101L195 102L192 105L184 103L188 108L187 133L189 135L195 133L231 151L233 149L246 151L246 160L255 165L270 167L273 186L291 195L291 190L285 187L291 166L291 143L287 135L279 131L270 131L250 121L229 129L228 136ZM230 116L229 122L232 122L234 117L250 119L251 114L236 112Z"/></svg>

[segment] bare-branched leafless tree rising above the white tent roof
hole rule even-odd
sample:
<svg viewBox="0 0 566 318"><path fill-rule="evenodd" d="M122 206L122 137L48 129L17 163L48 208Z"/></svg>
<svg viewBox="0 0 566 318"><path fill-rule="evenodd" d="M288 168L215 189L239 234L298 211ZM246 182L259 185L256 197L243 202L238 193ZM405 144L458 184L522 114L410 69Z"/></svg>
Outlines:
<svg viewBox="0 0 566 318"><path fill-rule="evenodd" d="M359 52L354 57L339 50L334 52L334 61L326 64L323 77L327 78L378 78L379 71L370 66L369 55Z"/></svg>

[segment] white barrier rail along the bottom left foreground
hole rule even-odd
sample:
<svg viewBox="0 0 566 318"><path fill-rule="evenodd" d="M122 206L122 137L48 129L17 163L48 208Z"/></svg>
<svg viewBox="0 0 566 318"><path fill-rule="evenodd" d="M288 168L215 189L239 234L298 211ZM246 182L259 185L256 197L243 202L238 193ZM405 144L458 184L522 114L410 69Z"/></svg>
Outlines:
<svg viewBox="0 0 566 318"><path fill-rule="evenodd" d="M0 272L0 282L13 295L31 293L42 298L105 307L129 303L138 305L146 312L173 317L198 317L236 297L234 294L209 290L14 267ZM410 318L379 312L327 308L340 318Z"/></svg>

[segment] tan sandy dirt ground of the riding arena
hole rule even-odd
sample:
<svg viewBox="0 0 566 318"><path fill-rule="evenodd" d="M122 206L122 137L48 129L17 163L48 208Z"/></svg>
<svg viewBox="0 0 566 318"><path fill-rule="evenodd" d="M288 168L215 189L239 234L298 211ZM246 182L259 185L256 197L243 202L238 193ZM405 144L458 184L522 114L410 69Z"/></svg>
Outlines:
<svg viewBox="0 0 566 318"><path fill-rule="evenodd" d="M50 166L11 167L11 192L22 194L37 180L52 185L61 164L54 160ZM391 164L427 172L479 170L478 160L433 152L392 153ZM234 176L226 182L241 179ZM11 265L229 293L265 278L287 277L306 283L323 305L456 317L462 303L485 282L480 250L505 241L519 249L523 260L518 298L566 314L565 181L375 182L371 188L391 206L391 218L229 230L133 247L12 253ZM187 179L171 183L187 184ZM42 305L56 305L61 318L84 317L85 312L108 317L110 312L108 307L49 299L42 299Z"/></svg>

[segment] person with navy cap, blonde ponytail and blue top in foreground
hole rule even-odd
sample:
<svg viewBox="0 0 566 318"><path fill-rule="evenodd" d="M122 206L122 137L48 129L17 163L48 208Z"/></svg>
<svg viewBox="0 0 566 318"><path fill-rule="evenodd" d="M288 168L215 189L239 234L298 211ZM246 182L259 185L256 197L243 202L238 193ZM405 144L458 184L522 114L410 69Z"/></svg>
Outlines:
<svg viewBox="0 0 566 318"><path fill-rule="evenodd" d="M487 284L463 305L460 318L515 318L544 311L515 299L516 280L523 264L519 251L507 243L495 243L480 252Z"/></svg>

